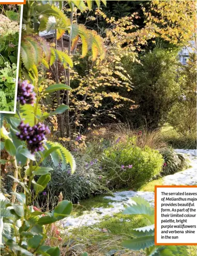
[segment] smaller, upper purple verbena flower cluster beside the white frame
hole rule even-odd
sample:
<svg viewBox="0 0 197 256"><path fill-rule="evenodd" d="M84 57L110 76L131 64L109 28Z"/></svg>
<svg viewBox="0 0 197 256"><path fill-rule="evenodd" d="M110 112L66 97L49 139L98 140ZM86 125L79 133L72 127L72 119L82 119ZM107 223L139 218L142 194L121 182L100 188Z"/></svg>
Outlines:
<svg viewBox="0 0 197 256"><path fill-rule="evenodd" d="M20 102L21 105L24 104L34 104L35 101L35 93L33 92L34 86L31 83L28 83L27 80L18 82L18 94L17 101Z"/></svg>

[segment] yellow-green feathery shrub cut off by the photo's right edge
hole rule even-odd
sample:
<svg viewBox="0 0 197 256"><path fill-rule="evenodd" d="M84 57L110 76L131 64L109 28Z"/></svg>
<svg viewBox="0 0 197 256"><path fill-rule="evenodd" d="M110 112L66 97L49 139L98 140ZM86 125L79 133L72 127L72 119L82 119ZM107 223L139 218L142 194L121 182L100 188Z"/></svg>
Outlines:
<svg viewBox="0 0 197 256"><path fill-rule="evenodd" d="M168 121L177 132L188 135L196 133L196 54L190 54L187 65L178 69L180 86L176 103L171 109Z"/></svg>

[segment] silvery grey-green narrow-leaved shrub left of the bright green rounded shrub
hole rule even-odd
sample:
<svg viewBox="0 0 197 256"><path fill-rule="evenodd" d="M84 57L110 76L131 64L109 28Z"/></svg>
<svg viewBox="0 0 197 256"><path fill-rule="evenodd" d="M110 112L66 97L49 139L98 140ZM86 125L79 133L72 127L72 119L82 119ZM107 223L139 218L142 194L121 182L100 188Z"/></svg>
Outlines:
<svg viewBox="0 0 197 256"><path fill-rule="evenodd" d="M87 154L78 154L75 161L77 170L73 174L71 174L70 166L63 170L60 164L51 172L51 181L45 190L50 206L58 203L60 192L65 200L77 203L92 193L101 193L107 190L102 184L103 175L97 159L90 160L87 158ZM53 164L48 161L45 166L51 167ZM39 203L42 204L42 207L44 206L42 202L45 202L46 198L46 193L40 195Z"/></svg>

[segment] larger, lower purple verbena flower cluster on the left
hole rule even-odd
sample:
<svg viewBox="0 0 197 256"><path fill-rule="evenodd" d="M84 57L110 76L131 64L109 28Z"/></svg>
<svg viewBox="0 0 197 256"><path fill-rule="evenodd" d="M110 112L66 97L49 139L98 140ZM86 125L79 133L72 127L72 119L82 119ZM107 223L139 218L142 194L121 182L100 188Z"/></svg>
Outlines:
<svg viewBox="0 0 197 256"><path fill-rule="evenodd" d="M21 140L26 140L27 148L31 153L44 150L43 144L46 139L45 135L50 133L48 126L37 123L31 127L29 124L24 124L24 122L21 121L18 129L20 133L16 134L17 137Z"/></svg>

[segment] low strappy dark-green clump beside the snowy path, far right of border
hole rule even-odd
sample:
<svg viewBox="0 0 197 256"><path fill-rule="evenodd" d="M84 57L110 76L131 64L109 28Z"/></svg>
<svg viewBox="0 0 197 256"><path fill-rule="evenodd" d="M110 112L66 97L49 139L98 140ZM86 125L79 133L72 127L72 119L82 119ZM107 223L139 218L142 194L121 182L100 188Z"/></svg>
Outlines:
<svg viewBox="0 0 197 256"><path fill-rule="evenodd" d="M172 148L163 148L159 151L164 159L161 175L169 175L189 167L188 158L184 154L176 153Z"/></svg>

